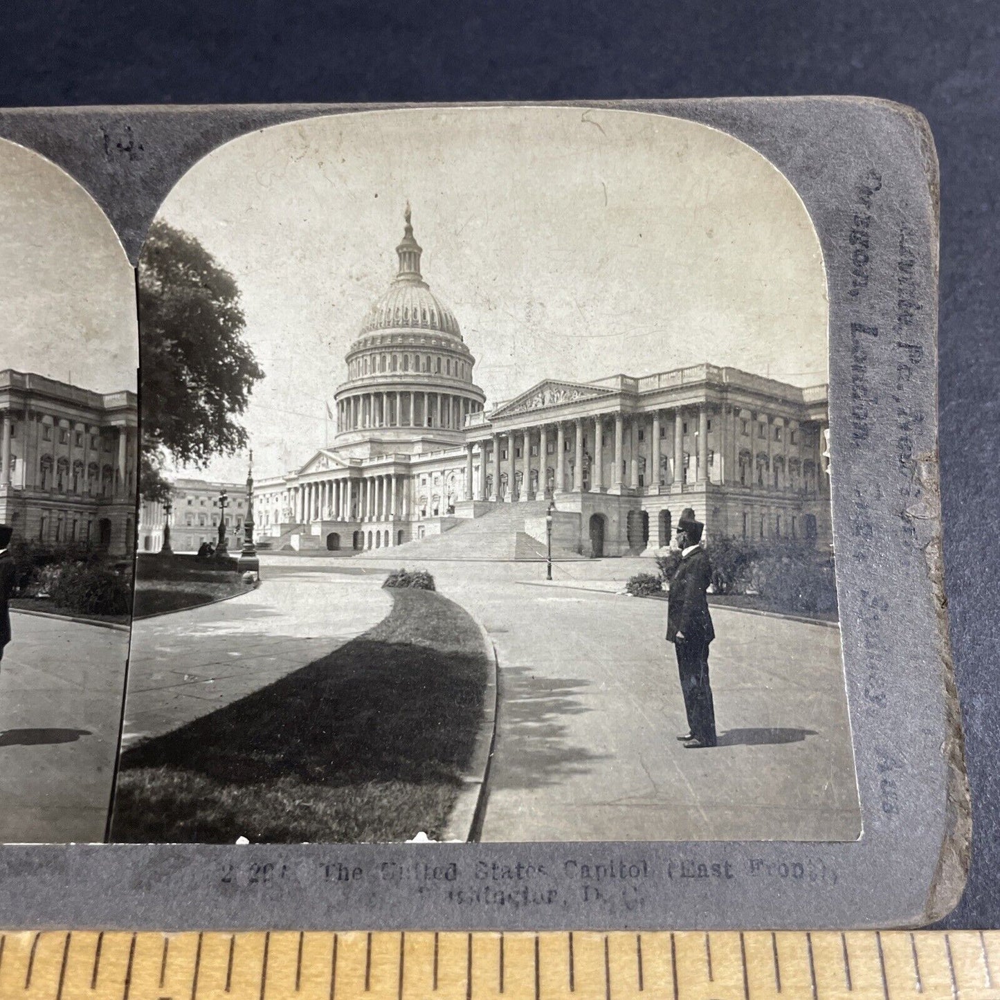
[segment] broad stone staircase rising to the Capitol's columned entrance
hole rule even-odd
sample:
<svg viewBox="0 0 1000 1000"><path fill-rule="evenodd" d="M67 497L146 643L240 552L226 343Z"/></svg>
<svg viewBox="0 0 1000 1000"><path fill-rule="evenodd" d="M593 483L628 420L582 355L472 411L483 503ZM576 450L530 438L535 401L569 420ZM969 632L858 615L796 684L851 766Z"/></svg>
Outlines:
<svg viewBox="0 0 1000 1000"><path fill-rule="evenodd" d="M548 503L497 504L481 517L462 520L443 535L429 535L394 548L366 552L366 558L483 560L487 562L544 562L545 542L524 531L528 517L544 517ZM553 562L582 560L568 549L552 547Z"/></svg>

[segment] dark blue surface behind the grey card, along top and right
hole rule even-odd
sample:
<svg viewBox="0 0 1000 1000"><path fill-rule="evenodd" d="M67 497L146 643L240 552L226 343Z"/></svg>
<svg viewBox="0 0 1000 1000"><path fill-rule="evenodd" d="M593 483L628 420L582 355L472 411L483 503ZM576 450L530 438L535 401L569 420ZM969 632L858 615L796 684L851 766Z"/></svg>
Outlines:
<svg viewBox="0 0 1000 1000"><path fill-rule="evenodd" d="M952 926L1000 925L1000 5L8 0L0 105L862 94L941 161L946 588L975 801Z"/></svg>

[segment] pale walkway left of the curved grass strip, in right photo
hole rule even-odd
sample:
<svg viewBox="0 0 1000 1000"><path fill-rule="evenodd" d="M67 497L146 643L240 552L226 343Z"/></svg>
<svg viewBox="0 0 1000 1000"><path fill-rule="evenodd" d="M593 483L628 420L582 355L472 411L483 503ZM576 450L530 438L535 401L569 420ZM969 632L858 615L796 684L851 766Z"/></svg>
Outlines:
<svg viewBox="0 0 1000 1000"><path fill-rule="evenodd" d="M301 561L256 590L132 628L124 748L170 732L325 656L389 614L385 571Z"/></svg>

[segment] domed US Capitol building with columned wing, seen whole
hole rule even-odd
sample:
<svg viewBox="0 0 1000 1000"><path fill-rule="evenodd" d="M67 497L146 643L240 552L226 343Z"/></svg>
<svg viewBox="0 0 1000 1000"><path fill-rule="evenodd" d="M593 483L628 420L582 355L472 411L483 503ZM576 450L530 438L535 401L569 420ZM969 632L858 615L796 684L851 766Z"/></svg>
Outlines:
<svg viewBox="0 0 1000 1000"><path fill-rule="evenodd" d="M488 409L458 320L421 275L409 208L396 252L399 272L347 352L335 442L258 483L259 539L357 551L414 543L417 556L447 538L467 558L534 558L552 503L563 554L652 553L685 507L709 538L812 539L829 551L825 385L700 363L544 379ZM480 532L492 547L469 530L480 519L494 526ZM504 534L510 544L497 548Z"/></svg>

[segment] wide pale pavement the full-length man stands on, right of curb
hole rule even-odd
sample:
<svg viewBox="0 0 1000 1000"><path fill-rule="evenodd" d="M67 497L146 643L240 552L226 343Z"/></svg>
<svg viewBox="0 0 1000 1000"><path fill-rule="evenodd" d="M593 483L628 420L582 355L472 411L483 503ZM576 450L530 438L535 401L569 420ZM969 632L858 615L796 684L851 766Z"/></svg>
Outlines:
<svg viewBox="0 0 1000 1000"><path fill-rule="evenodd" d="M433 565L499 654L483 840L857 837L839 629L713 609L720 746L685 750L666 605L608 592L633 563Z"/></svg>

